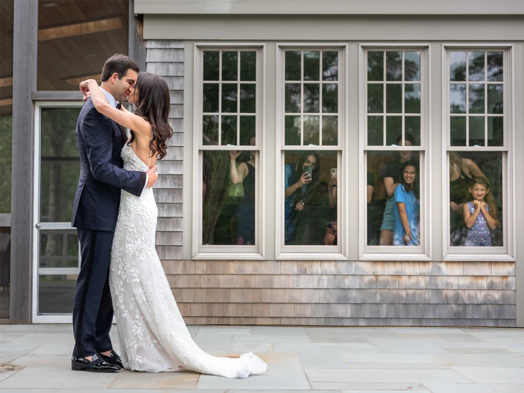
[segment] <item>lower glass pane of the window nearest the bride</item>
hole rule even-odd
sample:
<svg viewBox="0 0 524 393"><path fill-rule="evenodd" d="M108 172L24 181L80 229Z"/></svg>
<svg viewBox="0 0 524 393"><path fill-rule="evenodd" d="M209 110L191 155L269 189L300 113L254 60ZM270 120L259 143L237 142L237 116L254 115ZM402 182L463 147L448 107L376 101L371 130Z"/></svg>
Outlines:
<svg viewBox="0 0 524 393"><path fill-rule="evenodd" d="M231 153L237 155L235 151ZM202 244L255 244L256 154L242 152L234 160L237 168L242 165L248 170L242 182L234 184L230 152L203 152Z"/></svg>

